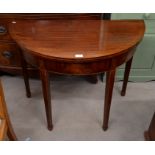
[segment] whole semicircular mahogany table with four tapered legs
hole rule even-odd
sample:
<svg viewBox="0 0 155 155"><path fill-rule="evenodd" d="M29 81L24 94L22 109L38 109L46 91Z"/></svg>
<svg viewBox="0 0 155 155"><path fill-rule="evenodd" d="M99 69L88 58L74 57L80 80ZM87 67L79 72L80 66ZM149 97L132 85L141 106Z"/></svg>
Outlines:
<svg viewBox="0 0 155 155"><path fill-rule="evenodd" d="M49 71L70 75L106 72L103 130L108 128L116 68L126 63L124 96L135 49L144 35L142 20L16 20L9 25L21 47L27 96L30 87L26 64L39 68L48 129L52 130Z"/></svg>

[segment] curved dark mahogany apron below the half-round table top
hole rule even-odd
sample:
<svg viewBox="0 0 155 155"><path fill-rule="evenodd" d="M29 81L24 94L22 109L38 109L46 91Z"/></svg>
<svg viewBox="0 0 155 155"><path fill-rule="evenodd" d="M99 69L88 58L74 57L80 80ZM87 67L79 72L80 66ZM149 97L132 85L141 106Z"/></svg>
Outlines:
<svg viewBox="0 0 155 155"><path fill-rule="evenodd" d="M58 74L91 75L112 70L127 62L134 54L135 47L120 55L110 58L100 58L89 61L64 61L36 56L23 51L27 63L39 68L40 62L44 63L45 69Z"/></svg>

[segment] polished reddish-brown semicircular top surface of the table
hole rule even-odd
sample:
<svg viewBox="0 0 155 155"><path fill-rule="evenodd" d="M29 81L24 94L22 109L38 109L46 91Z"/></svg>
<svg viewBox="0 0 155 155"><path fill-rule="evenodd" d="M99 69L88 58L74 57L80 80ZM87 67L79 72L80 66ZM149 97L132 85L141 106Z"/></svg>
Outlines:
<svg viewBox="0 0 155 155"><path fill-rule="evenodd" d="M57 59L91 59L118 55L144 34L142 20L16 20L12 38L36 55ZM82 57L81 57L82 55Z"/></svg>

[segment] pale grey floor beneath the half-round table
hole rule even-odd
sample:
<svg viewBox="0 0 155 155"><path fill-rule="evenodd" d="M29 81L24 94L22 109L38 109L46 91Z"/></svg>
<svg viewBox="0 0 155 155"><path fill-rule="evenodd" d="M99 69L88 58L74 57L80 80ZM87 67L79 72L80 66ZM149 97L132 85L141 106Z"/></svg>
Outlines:
<svg viewBox="0 0 155 155"><path fill-rule="evenodd" d="M26 98L23 79L3 76L2 84L14 130L19 140L144 140L155 111L155 82L122 82L113 92L109 129L101 128L105 83L90 84L79 77L51 80L53 131L46 129L40 80L30 80L32 98Z"/></svg>

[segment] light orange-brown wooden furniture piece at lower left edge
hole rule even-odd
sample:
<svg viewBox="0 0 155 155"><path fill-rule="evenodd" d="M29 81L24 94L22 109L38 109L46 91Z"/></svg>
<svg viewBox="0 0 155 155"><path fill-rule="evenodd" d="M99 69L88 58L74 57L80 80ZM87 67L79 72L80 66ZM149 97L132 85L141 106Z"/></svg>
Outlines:
<svg viewBox="0 0 155 155"><path fill-rule="evenodd" d="M0 140L4 140L6 133L10 140L17 140L17 137L13 131L10 122L5 97L3 93L3 88L0 81Z"/></svg>

